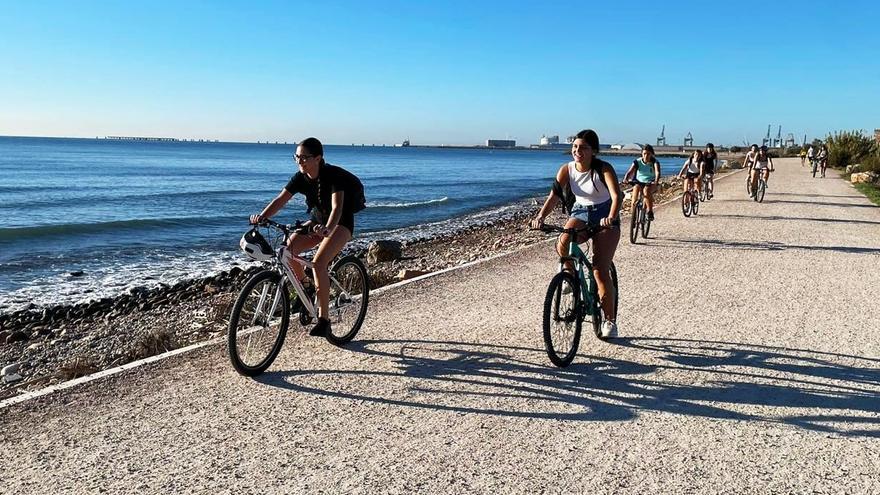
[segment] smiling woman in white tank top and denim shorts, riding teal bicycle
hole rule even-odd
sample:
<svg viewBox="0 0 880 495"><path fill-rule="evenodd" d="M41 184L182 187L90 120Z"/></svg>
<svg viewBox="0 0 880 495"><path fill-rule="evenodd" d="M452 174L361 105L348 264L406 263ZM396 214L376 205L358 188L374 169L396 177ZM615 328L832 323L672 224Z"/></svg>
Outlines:
<svg viewBox="0 0 880 495"><path fill-rule="evenodd" d="M602 326L602 336L617 336L616 302L611 280L611 262L620 241L620 206L623 195L617 182L614 168L607 162L596 158L599 152L599 136L587 129L577 134L571 143L572 161L559 167L556 182L553 184L544 206L538 216L530 222L532 228L544 225L544 218L563 201L563 208L570 209L565 228L580 228L586 224L606 227L593 235L593 276L599 289L599 301L605 313L606 322ZM572 197L573 196L573 197ZM587 240L586 234L577 239L578 243ZM568 234L559 236L556 251L560 256L568 256ZM573 269L570 262L566 268Z"/></svg>

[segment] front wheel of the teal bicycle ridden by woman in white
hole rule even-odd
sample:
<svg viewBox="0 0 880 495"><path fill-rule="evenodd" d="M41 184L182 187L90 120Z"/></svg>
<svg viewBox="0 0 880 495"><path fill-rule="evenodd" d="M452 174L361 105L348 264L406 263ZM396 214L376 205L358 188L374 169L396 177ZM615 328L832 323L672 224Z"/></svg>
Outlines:
<svg viewBox="0 0 880 495"><path fill-rule="evenodd" d="M563 291L565 285L571 288L568 294ZM560 314L560 305L564 301L567 307ZM550 281L544 297L544 348L550 362L560 368L571 364L580 345L583 321L580 311L580 285L574 275L561 271ZM566 328L554 331L554 323L560 322L566 324ZM574 328L570 328L572 324Z"/></svg>

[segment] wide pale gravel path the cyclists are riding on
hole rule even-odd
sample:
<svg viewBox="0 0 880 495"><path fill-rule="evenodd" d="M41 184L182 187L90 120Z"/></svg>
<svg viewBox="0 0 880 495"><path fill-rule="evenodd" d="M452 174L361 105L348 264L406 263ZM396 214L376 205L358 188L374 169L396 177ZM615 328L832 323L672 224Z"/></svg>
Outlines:
<svg viewBox="0 0 880 495"><path fill-rule="evenodd" d="M779 160L623 240L621 339L549 364L549 244L388 291L344 349L292 336L0 410L3 493L878 493L880 209ZM300 334L301 335L301 334Z"/></svg>

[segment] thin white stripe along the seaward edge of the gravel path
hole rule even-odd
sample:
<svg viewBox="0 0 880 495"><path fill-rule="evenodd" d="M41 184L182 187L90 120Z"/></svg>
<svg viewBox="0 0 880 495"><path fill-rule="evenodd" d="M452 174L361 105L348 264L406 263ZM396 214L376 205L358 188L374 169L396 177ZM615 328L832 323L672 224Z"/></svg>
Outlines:
<svg viewBox="0 0 880 495"><path fill-rule="evenodd" d="M735 171L733 171L733 172L729 172L729 173L725 174L723 177L719 177L719 178L717 178L716 180L722 180L722 179L725 179L725 178L730 177L730 176L732 176L732 175L736 175L738 172L741 172L741 171L743 171L743 170L744 170L744 169L739 169L739 170L735 170ZM674 202L674 201L678 201L680 198L681 198L681 195L679 194L679 195L677 195L677 196L675 196L675 197L673 197L673 198L671 198L671 199L668 199L668 200L664 201L663 203L658 204L657 207L659 208L659 207L661 207L661 206L668 205L668 204L670 204L670 203L672 203L672 202ZM454 270L460 270L460 269L462 269L462 268L467 268L467 267L469 267L469 266L477 265L477 264L480 264L480 263L486 263L486 262L488 262L488 261L492 261L492 260L494 260L494 259L501 258L501 257L503 257L503 256L508 256L508 255L511 255L511 254L517 253L517 252L519 252L519 251L523 251L523 250L525 250L525 249L532 248L532 247L537 246L537 245L539 245L539 244L546 243L546 242L548 242L548 241L547 241L547 240L544 240L544 241L538 241L538 242L536 242L536 243L534 243L534 244L528 244L528 245L526 245L526 246L523 246L523 247L521 247L521 248L519 248L519 249L515 249L515 250L513 250L513 251L508 251L508 252L505 252L505 253L499 253L499 254L496 254L496 255L494 255L494 256L490 256L490 257L488 257L488 258L482 258L482 259L478 259L478 260L474 260L474 261L469 261L469 262L467 262L467 263L462 263L461 265L451 266L451 267L449 267L449 268L444 268L444 269L442 269L442 270L438 270L438 271L436 271L436 272L431 272L431 273L427 273L427 274L425 274L425 275L420 275L420 276L418 276L418 277L414 277L414 278L411 278L411 279L409 279L409 280L403 280L403 281L400 281L400 282L396 282L396 283L393 283L393 284L390 284L390 285L386 285L386 286L384 286L384 287L380 287L380 288L378 288L378 289L376 289L376 290L370 292L370 294L371 294L371 295L373 295L373 294L381 294L381 293L383 293L383 292L386 292L386 291L389 291L389 290L392 290L392 289L396 289L396 288L398 288L398 287L403 287L404 285L408 285L408 284L412 284L412 283L415 283L415 282L419 282L419 281L421 281L421 280L425 280L425 279L428 279L428 278L431 278L431 277L436 277L436 276L439 276L439 275L442 275L442 274L444 274L444 273L448 273L448 272L451 272L451 271L454 271ZM196 350L196 349L201 349L202 347L208 347L208 346L210 346L210 345L221 344L221 343L223 343L225 340L226 340L225 337L217 337L217 338L214 338L214 339L211 339L211 340L207 340L207 341L205 341L205 342L199 342L198 344L193 344L193 345L190 345L190 346L187 346L187 347L181 347L180 349L174 349L173 351L168 351L168 352L165 352L165 353L162 353L162 354L157 354L157 355L155 355L155 356L150 356L150 357L148 357L148 358L140 359L140 360L138 360L138 361L132 361L132 362L130 362L130 363L126 363L126 364L123 364L123 365L121 365L121 366L117 366L117 367L115 367L115 368L110 368L110 369L107 369L107 370L99 371L99 372L97 372L97 373L92 373L91 375L86 375L86 376L82 376L82 377L79 377L79 378L75 378L75 379L73 379L73 380L68 380L68 381L66 381L66 382L58 383L58 384L55 384L55 385L50 385L50 386L48 386L48 387L46 387L46 388L41 388L41 389L39 389L39 390L34 390L33 392L26 392L26 393L23 393L23 394L20 394L20 395L16 395L15 397L10 397L10 398L8 398L8 399L4 399L4 400L0 401L0 409L4 409L4 408L6 408L6 407L13 406L13 405L15 405L15 404L21 404L21 403L23 403L23 402L27 402L27 401L32 400L32 399L36 399L36 398L38 398L38 397L44 397L44 396L47 396L47 395L52 394L52 393L54 393L54 392L58 392L58 391L60 391L60 390L66 390L66 389L69 389L69 388L73 388L73 387L76 387L76 386L78 386L78 385L82 385L82 384L84 384L84 383L89 383L89 382L92 382L92 381L95 381L95 380L99 380L99 379L101 379L101 378L106 378L106 377L108 377L108 376L113 376L113 375L116 375L116 374L121 373L121 372L126 371L126 370L130 370L130 369L138 368L138 367L143 366L143 365L145 365L145 364L150 364L150 363L154 363L154 362L156 362L156 361L161 361L161 360L163 360L163 359L167 359L167 358L170 358L170 357L173 357L173 356L177 356L177 355L179 355L179 354L185 354L185 353L187 353L187 352L191 352L191 351L194 351L194 350Z"/></svg>

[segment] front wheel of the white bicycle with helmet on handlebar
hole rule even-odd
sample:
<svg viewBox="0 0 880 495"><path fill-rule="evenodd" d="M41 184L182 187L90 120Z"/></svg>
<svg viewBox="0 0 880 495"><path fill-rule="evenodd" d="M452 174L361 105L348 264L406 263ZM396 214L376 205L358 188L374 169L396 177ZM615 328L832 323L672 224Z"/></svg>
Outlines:
<svg viewBox="0 0 880 495"><path fill-rule="evenodd" d="M254 274L238 294L227 335L229 360L236 371L256 376L272 364L290 323L290 297L278 272Z"/></svg>

